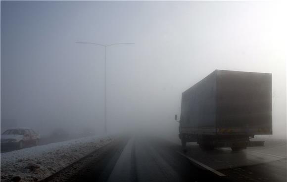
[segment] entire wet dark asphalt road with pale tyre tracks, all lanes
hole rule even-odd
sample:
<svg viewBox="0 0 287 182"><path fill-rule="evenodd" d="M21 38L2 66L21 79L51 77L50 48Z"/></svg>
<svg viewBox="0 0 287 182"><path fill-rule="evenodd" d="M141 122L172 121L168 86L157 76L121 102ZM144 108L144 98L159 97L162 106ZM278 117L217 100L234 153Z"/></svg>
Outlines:
<svg viewBox="0 0 287 182"><path fill-rule="evenodd" d="M286 182L286 165L286 143L239 152L189 144L183 153L178 143L135 136L112 142L44 182Z"/></svg>

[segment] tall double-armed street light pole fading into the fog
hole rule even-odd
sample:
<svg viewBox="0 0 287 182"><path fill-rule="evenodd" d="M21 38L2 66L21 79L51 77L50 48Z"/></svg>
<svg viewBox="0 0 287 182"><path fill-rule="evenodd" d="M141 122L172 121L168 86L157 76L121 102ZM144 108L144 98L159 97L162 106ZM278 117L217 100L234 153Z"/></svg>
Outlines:
<svg viewBox="0 0 287 182"><path fill-rule="evenodd" d="M115 45L132 45L134 43L116 43L116 44L109 44L109 45L102 45L97 43L89 43L89 42L76 42L77 44L93 44L97 46L104 47L104 132L107 133L107 126L106 126L106 48L108 46L115 46Z"/></svg>

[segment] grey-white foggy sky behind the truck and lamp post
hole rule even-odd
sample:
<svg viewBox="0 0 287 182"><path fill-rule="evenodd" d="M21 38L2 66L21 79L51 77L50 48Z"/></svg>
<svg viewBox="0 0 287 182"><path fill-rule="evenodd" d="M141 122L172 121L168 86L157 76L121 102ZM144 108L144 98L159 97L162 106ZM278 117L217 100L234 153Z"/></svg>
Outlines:
<svg viewBox="0 0 287 182"><path fill-rule="evenodd" d="M275 2L1 1L1 131L178 134L181 94L216 69L272 73L286 137L287 27Z"/></svg>

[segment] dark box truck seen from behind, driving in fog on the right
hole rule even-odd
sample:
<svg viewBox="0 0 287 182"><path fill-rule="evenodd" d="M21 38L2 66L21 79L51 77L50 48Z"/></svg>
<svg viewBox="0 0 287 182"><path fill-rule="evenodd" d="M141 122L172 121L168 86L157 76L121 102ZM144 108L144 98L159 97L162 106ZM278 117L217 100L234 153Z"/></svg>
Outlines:
<svg viewBox="0 0 287 182"><path fill-rule="evenodd" d="M272 74L215 70L182 93L179 123L183 148L264 146L250 138L272 135Z"/></svg>

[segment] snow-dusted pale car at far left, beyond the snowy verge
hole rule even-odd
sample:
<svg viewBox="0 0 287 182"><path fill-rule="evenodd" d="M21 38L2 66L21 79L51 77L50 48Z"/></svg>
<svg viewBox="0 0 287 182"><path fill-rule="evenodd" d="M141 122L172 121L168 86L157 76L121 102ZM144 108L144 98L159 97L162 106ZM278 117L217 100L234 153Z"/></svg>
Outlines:
<svg viewBox="0 0 287 182"><path fill-rule="evenodd" d="M40 135L31 129L15 128L1 134L1 148L16 147L21 149L27 145L38 145Z"/></svg>

